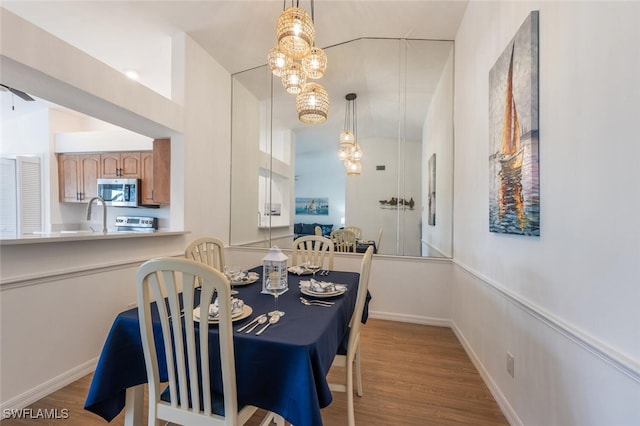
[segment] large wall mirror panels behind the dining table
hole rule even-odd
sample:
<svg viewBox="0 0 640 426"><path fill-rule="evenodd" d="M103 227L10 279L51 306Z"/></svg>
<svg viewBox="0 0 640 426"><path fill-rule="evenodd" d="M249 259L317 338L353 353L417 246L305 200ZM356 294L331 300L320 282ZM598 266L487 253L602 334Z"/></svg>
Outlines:
<svg viewBox="0 0 640 426"><path fill-rule="evenodd" d="M329 118L301 123L266 66L232 76L232 246L291 247L296 235L362 229L379 254L452 255L453 42L358 39L325 49ZM362 172L338 159L357 95Z"/></svg>

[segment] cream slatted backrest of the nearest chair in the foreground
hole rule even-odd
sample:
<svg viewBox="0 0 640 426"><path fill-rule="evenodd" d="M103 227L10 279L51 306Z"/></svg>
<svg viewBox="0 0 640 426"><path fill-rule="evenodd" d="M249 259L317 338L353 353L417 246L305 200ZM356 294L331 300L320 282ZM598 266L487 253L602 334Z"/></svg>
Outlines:
<svg viewBox="0 0 640 426"><path fill-rule="evenodd" d="M194 306L198 282L202 283L198 306L200 312L204 313L199 321L194 320L194 310L191 308ZM183 320L180 291L185 307ZM158 258L145 262L138 269L137 292L140 333L149 381L150 418L162 418L178 424L203 424L203 416L206 416L211 424L237 424L231 290L227 278L220 271L193 260ZM217 327L225 417L212 414L211 407L208 310L214 292L218 295L220 312ZM157 312L166 355L165 368L168 372L171 402L160 398L160 374L154 343L154 332L159 333L160 330L157 326L154 330L152 325L151 307L155 303L152 298L164 302L157 303ZM200 356L197 356L198 353Z"/></svg>

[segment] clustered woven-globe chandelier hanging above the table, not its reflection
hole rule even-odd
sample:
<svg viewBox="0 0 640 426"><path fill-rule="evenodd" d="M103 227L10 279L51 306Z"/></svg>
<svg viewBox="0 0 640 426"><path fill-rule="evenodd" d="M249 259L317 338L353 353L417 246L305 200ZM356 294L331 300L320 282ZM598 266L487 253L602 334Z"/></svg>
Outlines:
<svg viewBox="0 0 640 426"><path fill-rule="evenodd" d="M287 93L296 95L298 119L309 124L324 123L329 112L329 95L320 84L306 81L322 78L327 55L314 46L313 0L311 16L298 3L293 6L292 0L291 7L278 18L277 44L269 50L267 61L273 75L282 79Z"/></svg>

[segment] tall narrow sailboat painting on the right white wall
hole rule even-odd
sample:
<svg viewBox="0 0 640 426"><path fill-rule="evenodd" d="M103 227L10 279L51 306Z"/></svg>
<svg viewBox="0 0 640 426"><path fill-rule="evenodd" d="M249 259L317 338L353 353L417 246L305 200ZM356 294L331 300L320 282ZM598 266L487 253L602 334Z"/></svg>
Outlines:
<svg viewBox="0 0 640 426"><path fill-rule="evenodd" d="M538 11L489 72L489 230L540 236Z"/></svg>

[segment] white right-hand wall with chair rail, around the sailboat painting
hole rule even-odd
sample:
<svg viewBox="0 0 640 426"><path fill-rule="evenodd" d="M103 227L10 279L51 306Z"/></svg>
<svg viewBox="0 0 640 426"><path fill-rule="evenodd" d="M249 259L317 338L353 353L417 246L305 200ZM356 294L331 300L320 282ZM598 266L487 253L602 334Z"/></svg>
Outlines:
<svg viewBox="0 0 640 426"><path fill-rule="evenodd" d="M488 230L488 75L531 10L539 238ZM471 2L456 37L454 329L514 424L640 423L638 17L637 2Z"/></svg>

